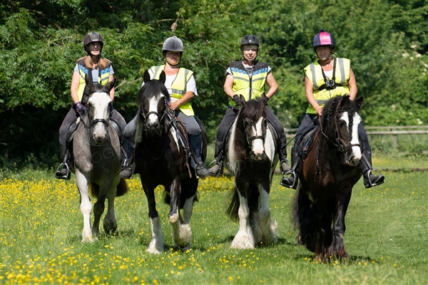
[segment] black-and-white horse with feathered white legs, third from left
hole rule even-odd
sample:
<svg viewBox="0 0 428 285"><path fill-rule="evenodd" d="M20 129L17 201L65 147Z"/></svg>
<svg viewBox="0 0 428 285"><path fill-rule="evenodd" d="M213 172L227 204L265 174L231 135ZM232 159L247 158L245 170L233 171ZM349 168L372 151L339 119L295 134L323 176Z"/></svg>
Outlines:
<svg viewBox="0 0 428 285"><path fill-rule="evenodd" d="M277 241L277 222L269 208L270 185L278 162L276 132L265 115L267 97L245 102L230 128L226 146L228 168L235 175L228 214L239 219L232 248L252 249L255 244Z"/></svg>

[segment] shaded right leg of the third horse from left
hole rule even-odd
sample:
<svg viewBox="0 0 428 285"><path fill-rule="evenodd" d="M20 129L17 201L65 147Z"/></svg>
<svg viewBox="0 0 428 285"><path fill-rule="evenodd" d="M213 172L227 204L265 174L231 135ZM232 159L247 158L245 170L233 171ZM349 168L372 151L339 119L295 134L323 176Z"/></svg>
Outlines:
<svg viewBox="0 0 428 285"><path fill-rule="evenodd" d="M264 185L265 187L269 185ZM269 188L267 188L269 189ZM277 242L277 222L272 223L269 208L269 192L264 187L260 189L260 209L258 213L258 223L262 231L261 242L272 244Z"/></svg>

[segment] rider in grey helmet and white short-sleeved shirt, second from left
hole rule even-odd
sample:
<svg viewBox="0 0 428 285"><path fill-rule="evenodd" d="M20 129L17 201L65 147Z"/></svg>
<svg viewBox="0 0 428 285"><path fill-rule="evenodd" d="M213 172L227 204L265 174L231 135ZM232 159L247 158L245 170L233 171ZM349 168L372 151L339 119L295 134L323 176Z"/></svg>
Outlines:
<svg viewBox="0 0 428 285"><path fill-rule="evenodd" d="M162 54L165 58L165 64L161 66L153 66L149 69L151 79L159 79L161 72L165 72L166 80L165 87L170 94L170 110L173 110L175 117L180 118L186 132L190 147L195 153L198 162L192 156L190 166L195 169L198 177L206 177L210 174L202 162L202 133L198 122L195 119L190 100L198 95L196 90L196 82L193 76L193 71L180 67L180 61L183 56L183 41L176 36L167 38L163 43ZM144 85L144 83L143 83ZM135 131L136 118L126 125L125 128L125 145L126 145L126 160L123 171L119 174L120 177L132 179L133 167L130 163L131 156L134 150L132 136Z"/></svg>

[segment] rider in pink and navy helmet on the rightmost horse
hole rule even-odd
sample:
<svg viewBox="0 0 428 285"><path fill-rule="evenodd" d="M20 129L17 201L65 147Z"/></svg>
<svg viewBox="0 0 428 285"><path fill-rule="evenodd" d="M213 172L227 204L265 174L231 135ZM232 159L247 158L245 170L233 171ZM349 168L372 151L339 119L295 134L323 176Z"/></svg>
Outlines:
<svg viewBox="0 0 428 285"><path fill-rule="evenodd" d="M340 95L350 95L354 100L357 95L357 81L347 58L333 57L335 51L335 39L330 33L320 30L313 39L312 45L318 60L306 66L305 95L308 107L305 117L300 123L291 152L292 169L283 175L280 184L284 187L296 189L300 174L302 157L298 153L298 146L302 135L315 128L317 116L322 115L324 103L330 98ZM360 167L366 188L381 185L384 176L372 169L372 151L362 123L358 128L358 135L362 140L363 155ZM377 175L373 175L373 173ZM289 177L287 177L290 175Z"/></svg>

